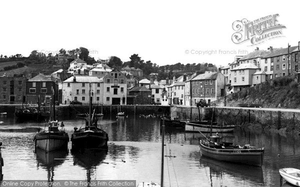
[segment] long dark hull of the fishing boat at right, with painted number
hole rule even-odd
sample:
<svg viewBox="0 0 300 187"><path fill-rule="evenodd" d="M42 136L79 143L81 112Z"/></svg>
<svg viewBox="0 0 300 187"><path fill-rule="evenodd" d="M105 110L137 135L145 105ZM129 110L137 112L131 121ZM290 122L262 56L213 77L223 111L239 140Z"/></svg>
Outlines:
<svg viewBox="0 0 300 187"><path fill-rule="evenodd" d="M218 161L239 163L261 167L263 162L263 149L215 149L200 143L201 154Z"/></svg>

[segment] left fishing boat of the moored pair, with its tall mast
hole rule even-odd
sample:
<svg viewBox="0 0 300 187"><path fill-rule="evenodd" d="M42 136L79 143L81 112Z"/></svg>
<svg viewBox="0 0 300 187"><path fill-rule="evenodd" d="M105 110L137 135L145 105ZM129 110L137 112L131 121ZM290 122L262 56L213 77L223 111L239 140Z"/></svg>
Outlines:
<svg viewBox="0 0 300 187"><path fill-rule="evenodd" d="M52 88L53 90L53 88ZM54 91L53 91L53 98ZM63 122L61 122L61 129L58 129L58 121L55 120L55 103L53 100L52 117L48 122L48 130L36 133L33 141L35 142L35 148L40 148L45 151L53 151L57 149L67 149L67 143L69 142L68 134L64 131Z"/></svg>

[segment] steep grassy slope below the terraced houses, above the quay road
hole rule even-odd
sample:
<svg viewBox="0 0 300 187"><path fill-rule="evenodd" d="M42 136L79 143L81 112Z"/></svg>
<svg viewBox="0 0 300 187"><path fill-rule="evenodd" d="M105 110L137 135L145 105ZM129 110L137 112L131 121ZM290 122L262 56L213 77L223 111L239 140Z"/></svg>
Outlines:
<svg viewBox="0 0 300 187"><path fill-rule="evenodd" d="M280 104L281 108L300 109L300 86L291 77L274 78L229 96L226 106L249 103L267 108L277 108Z"/></svg>

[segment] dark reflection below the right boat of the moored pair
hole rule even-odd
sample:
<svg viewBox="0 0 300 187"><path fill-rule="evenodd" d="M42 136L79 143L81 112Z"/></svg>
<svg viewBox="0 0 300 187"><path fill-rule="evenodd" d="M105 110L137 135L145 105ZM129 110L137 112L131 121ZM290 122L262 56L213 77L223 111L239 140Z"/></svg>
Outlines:
<svg viewBox="0 0 300 187"><path fill-rule="evenodd" d="M86 149L79 152L71 152L73 156L73 165L80 166L86 170L86 181L90 182L90 177L95 173L96 166L103 162L107 155L107 150L100 149Z"/></svg>

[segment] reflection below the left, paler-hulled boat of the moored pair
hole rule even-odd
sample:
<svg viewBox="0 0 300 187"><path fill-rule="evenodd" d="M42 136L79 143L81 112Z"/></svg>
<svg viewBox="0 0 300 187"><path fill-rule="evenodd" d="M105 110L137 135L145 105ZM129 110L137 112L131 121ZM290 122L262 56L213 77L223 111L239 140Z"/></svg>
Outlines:
<svg viewBox="0 0 300 187"><path fill-rule="evenodd" d="M62 165L64 162L68 151L67 150L53 150L46 152L40 148L35 149L37 168L41 167L47 170L47 180L48 182L53 182L54 168Z"/></svg>

